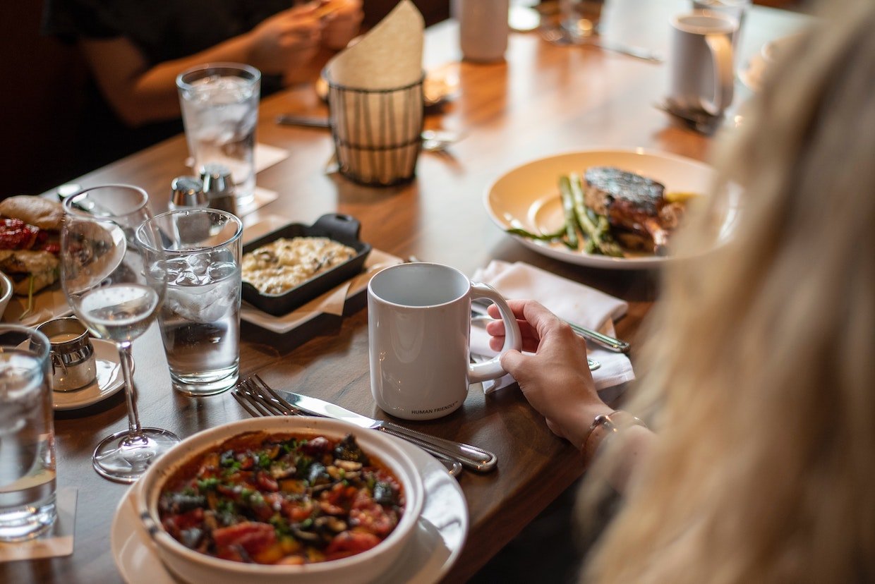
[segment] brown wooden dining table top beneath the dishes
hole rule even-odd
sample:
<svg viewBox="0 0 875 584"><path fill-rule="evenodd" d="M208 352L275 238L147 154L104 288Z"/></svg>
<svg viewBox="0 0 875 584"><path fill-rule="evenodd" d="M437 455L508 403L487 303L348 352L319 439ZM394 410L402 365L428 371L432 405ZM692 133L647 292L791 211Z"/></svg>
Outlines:
<svg viewBox="0 0 875 584"><path fill-rule="evenodd" d="M611 0L606 3L602 34L669 58L669 17L685 10L689 3L680 0ZM783 10L752 7L741 33L739 69L767 41L808 20ZM527 262L628 302L616 330L632 341L634 364L641 323L658 296L659 270L591 268L539 254L493 224L484 209L484 193L503 173L544 156L643 148L707 160L714 139L654 107L668 87L668 60L651 64L591 46L551 45L536 31L511 32L502 62L459 59L455 21L425 31L426 70L458 76L458 90L442 107L428 112L425 126L458 132L462 139L443 153L423 152L415 180L400 186L362 186L326 172L333 152L330 132L276 124L279 114L327 115L311 84L263 99L257 141L286 150L288 156L258 173L257 184L276 191L277 197L246 215L245 225L276 217L310 224L322 214L339 212L360 220L362 240L398 258L448 264L467 275L492 260ZM737 81L725 131L732 131L733 116L753 95ZM180 135L75 182L137 184L150 193L152 210L159 212L166 207L172 178L191 172L186 156L186 140ZM362 306L351 304L348 314L326 319L304 336L244 326L242 376L258 373L276 388L388 419L370 393L367 309ZM144 426L166 428L185 438L248 417L230 393L200 399L175 393L155 327L134 343L134 356ZM122 581L110 551L110 525L128 485L108 482L91 467L95 445L126 428L121 395L56 413L58 487L75 490L78 497L73 554L0 564L0 581ZM498 455L493 472L465 471L458 476L470 525L458 561L443 577L446 582L465 581L477 573L584 470L577 450L550 433L515 386L489 395L472 388L458 411L434 421L402 423Z"/></svg>

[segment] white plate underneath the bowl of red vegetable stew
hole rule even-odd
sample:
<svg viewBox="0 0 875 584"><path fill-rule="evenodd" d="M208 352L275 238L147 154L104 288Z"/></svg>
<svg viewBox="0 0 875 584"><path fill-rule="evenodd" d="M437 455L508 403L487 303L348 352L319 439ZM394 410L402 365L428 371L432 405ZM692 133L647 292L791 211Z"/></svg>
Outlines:
<svg viewBox="0 0 875 584"><path fill-rule="evenodd" d="M388 436L392 438L391 436ZM398 440L392 438L393 440ZM402 552L402 562L380 578L381 584L432 584L458 559L468 533L468 508L456 479L420 448L398 440L398 445L420 469L425 504L413 539ZM128 584L178 584L158 559L149 534L137 518L135 483L122 497L109 532L113 558Z"/></svg>

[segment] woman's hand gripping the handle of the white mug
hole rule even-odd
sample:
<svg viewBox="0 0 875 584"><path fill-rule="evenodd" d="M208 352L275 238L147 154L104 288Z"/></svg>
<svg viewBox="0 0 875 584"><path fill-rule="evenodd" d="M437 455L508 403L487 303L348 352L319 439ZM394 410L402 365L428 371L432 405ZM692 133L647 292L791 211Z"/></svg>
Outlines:
<svg viewBox="0 0 875 584"><path fill-rule="evenodd" d="M520 384L528 403L543 414L549 429L582 448L592 420L612 411L596 393L586 363L586 341L539 302L509 300L507 304L520 325L522 350L534 354L507 351L501 365ZM500 317L494 305L489 314ZM492 336L490 346L500 351L504 323L489 323L486 331Z"/></svg>

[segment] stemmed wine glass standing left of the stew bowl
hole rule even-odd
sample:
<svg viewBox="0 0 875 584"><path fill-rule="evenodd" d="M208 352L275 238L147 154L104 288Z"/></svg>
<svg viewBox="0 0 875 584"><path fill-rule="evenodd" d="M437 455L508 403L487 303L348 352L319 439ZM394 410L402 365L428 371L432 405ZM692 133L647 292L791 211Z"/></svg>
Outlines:
<svg viewBox="0 0 875 584"><path fill-rule="evenodd" d="M111 184L66 198L61 231L61 284L73 312L95 336L116 344L128 404L128 429L103 439L91 460L98 474L133 483L179 437L143 428L137 414L131 344L164 302L161 270L146 266L134 230L149 219L146 191Z"/></svg>

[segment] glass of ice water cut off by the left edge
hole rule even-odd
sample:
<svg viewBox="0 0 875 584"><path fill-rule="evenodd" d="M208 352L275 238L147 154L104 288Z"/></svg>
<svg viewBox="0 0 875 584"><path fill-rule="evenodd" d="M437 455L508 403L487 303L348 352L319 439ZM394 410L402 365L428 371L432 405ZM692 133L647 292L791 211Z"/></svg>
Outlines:
<svg viewBox="0 0 875 584"><path fill-rule="evenodd" d="M49 340L0 325L0 541L32 539L55 520Z"/></svg>

